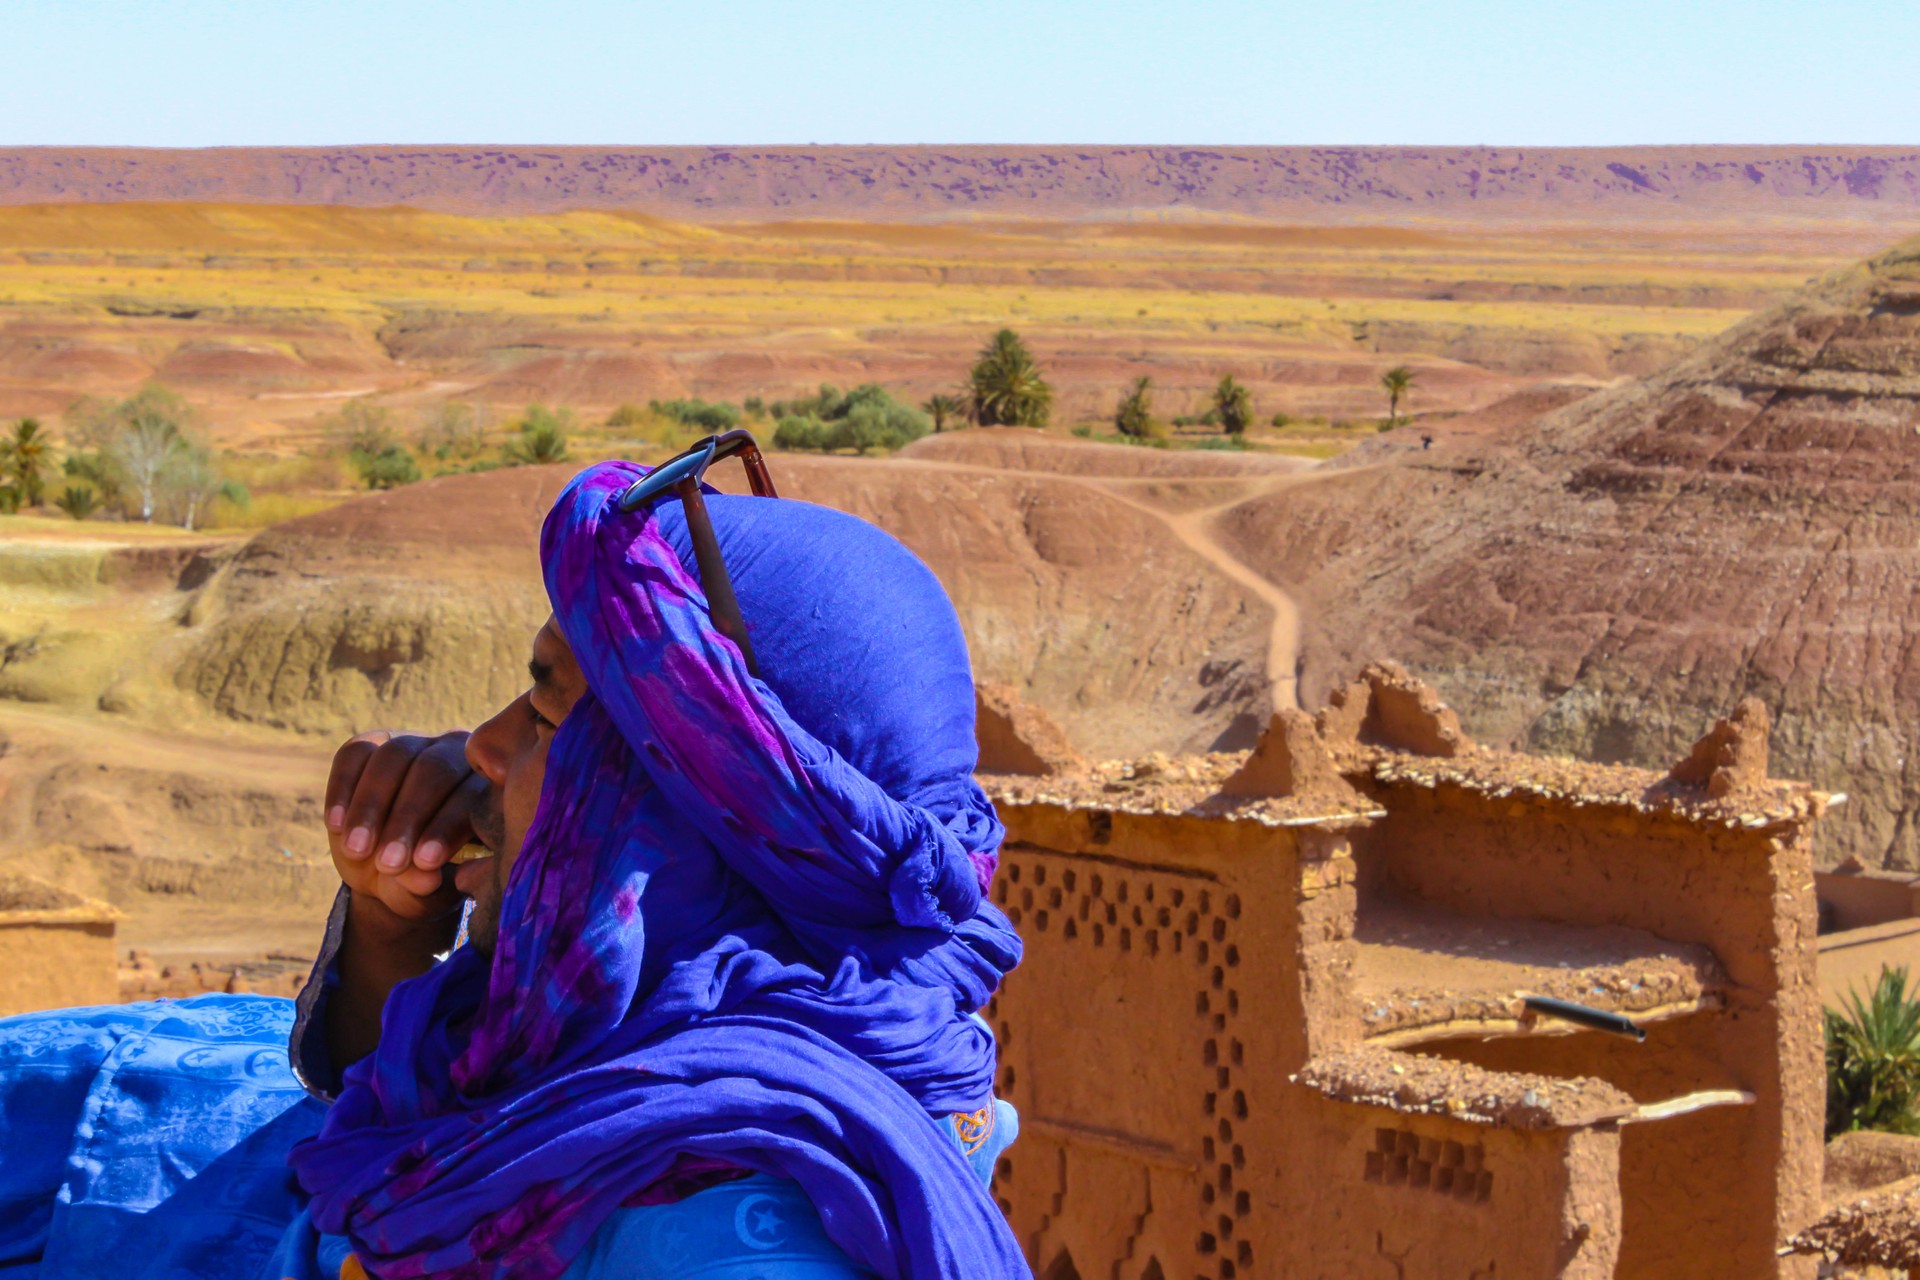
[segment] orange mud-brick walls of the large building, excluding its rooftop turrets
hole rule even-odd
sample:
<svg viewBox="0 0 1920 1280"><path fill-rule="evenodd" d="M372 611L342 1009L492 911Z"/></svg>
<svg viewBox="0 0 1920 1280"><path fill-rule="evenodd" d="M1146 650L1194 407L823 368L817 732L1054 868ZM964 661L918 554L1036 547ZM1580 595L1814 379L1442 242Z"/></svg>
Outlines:
<svg viewBox="0 0 1920 1280"><path fill-rule="evenodd" d="M1037 1274L1811 1274L1776 1257L1820 1186L1809 823L1350 777L1356 812L1317 821L1002 800L995 900L1027 961L987 1009L1023 1125L996 1194ZM1597 1079L1628 1107L1755 1102L1528 1128L1294 1082L1363 1042L1356 919L1382 900L1638 929L1711 948L1728 979L1644 1044L1530 1032L1409 1054Z"/></svg>

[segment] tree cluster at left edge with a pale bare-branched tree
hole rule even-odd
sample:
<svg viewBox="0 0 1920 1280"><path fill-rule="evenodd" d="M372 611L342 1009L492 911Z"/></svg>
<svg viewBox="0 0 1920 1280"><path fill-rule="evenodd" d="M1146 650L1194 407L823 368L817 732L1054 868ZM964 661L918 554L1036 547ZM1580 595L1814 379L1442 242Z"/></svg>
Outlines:
<svg viewBox="0 0 1920 1280"><path fill-rule="evenodd" d="M56 462L63 482L54 507L75 520L111 510L192 530L215 497L236 507L250 501L198 439L192 409L167 388L148 386L121 401L83 399L65 418L65 451L36 418L17 420L0 439L0 510L46 503Z"/></svg>

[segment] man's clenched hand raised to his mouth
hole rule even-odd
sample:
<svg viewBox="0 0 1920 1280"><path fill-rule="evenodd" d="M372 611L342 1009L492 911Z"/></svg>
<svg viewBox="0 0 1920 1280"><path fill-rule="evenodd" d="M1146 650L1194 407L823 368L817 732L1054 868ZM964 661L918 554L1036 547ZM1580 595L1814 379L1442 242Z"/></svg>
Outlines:
<svg viewBox="0 0 1920 1280"><path fill-rule="evenodd" d="M355 912L392 927L440 921L459 906L444 873L472 835L488 781L467 764L467 733L376 729L348 739L326 777L326 841Z"/></svg>

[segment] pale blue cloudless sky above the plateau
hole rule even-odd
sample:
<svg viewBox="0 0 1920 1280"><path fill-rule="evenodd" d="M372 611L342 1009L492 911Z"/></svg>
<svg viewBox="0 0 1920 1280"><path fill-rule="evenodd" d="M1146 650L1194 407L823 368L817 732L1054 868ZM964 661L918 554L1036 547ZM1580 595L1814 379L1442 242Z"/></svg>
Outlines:
<svg viewBox="0 0 1920 1280"><path fill-rule="evenodd" d="M1920 144L1914 0L0 0L0 146Z"/></svg>

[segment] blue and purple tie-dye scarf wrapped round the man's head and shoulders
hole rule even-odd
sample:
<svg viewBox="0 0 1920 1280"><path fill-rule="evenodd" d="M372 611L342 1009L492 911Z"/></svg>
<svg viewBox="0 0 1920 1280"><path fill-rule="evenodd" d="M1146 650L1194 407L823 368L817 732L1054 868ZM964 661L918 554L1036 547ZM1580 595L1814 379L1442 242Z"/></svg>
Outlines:
<svg viewBox="0 0 1920 1280"><path fill-rule="evenodd" d="M766 683L714 628L678 503L578 476L541 533L586 674L492 963L394 990L292 1163L382 1280L555 1276L687 1161L799 1182L881 1276L1025 1276L931 1117L993 1092L968 1013L1020 960L983 898L952 606L879 530L712 497ZM676 549L678 543L678 549Z"/></svg>

